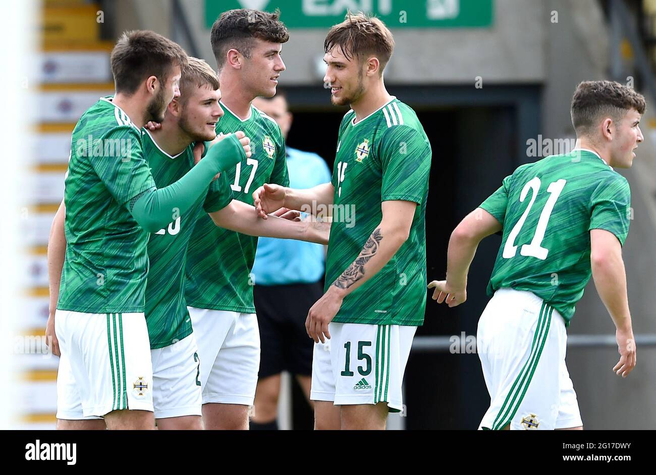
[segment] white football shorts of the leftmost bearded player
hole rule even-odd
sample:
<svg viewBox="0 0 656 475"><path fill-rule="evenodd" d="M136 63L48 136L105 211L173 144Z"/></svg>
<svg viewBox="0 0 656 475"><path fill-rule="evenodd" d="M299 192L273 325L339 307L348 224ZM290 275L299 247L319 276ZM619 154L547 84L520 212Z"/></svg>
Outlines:
<svg viewBox="0 0 656 475"><path fill-rule="evenodd" d="M56 310L62 358L57 419L95 419L111 411L153 411L153 369L142 313Z"/></svg>

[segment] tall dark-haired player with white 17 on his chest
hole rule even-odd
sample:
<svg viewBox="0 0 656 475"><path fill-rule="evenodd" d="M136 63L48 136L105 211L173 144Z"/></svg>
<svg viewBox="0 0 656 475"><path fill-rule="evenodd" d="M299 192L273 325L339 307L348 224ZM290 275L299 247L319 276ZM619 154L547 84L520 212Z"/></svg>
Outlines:
<svg viewBox="0 0 656 475"><path fill-rule="evenodd" d="M212 27L224 112L217 133L243 130L253 155L226 170L233 197L251 205L265 182L289 183L285 144L274 119L251 105L276 93L285 70L280 56L289 39L277 13L230 10ZM274 210L275 211L275 210ZM209 429L247 429L260 361L260 336L251 275L257 238L199 218L186 264L186 299L201 364L203 421Z"/></svg>

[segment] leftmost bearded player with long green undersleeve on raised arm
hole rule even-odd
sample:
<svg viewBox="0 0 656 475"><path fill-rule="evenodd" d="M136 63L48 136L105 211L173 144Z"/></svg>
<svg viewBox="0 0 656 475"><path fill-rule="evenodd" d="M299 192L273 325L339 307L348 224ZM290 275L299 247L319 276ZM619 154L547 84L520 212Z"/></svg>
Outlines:
<svg viewBox="0 0 656 475"><path fill-rule="evenodd" d="M161 120L179 96L186 54L157 33L131 31L111 63L116 93L100 98L73 130L66 208L53 223L64 222L66 253L51 259L49 274L61 285L52 285L58 300L47 333L60 349L59 374L72 379L58 380L59 428L98 427L99 417L108 428L154 427L144 317L148 232L168 224L172 210L186 213L216 173L250 153L243 133L241 140L234 134L178 182L157 189L141 127Z"/></svg>

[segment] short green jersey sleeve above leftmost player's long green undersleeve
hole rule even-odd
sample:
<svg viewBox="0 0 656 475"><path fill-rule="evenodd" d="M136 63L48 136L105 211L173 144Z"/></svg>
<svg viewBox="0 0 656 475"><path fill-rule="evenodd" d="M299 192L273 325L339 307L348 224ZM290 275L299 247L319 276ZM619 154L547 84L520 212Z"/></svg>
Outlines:
<svg viewBox="0 0 656 475"><path fill-rule="evenodd" d="M102 154L89 157L98 178L123 205L138 194L155 188L141 137L134 127L116 127L100 142Z"/></svg>

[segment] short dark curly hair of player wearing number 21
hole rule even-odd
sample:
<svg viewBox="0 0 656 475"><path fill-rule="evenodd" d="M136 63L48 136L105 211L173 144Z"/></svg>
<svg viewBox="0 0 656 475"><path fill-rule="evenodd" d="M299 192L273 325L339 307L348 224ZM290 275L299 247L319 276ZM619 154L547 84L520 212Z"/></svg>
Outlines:
<svg viewBox="0 0 656 475"><path fill-rule="evenodd" d="M645 107L644 96L628 86L615 81L583 81L572 98L572 125L577 135L587 135L604 117L620 121L628 110L642 115Z"/></svg>

